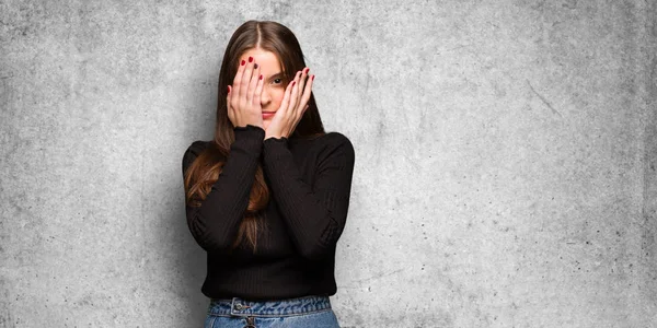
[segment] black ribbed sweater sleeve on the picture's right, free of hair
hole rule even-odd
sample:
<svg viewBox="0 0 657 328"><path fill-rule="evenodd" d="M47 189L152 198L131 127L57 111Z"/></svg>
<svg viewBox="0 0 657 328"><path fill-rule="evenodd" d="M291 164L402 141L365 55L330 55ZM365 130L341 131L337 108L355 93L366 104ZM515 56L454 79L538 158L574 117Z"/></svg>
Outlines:
<svg viewBox="0 0 657 328"><path fill-rule="evenodd" d="M318 159L312 188L301 179L287 138L269 138L263 143L263 167L274 199L297 249L311 260L334 251L349 207L354 147L341 133L328 138Z"/></svg>

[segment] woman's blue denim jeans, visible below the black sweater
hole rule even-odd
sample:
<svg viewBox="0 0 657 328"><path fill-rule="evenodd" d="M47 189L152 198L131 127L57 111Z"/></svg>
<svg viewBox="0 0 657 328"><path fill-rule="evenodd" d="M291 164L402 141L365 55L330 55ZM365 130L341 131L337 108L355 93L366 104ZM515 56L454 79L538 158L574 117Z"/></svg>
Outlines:
<svg viewBox="0 0 657 328"><path fill-rule="evenodd" d="M205 328L339 328L328 296L266 302L211 298Z"/></svg>

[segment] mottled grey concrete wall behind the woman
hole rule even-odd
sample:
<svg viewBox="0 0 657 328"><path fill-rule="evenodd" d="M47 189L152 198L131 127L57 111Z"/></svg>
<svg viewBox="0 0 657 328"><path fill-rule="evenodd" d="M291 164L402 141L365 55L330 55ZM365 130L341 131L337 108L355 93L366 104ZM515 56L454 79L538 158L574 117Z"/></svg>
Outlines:
<svg viewBox="0 0 657 328"><path fill-rule="evenodd" d="M356 148L344 327L657 327L653 0L0 0L0 327L201 327L181 160L250 19Z"/></svg>

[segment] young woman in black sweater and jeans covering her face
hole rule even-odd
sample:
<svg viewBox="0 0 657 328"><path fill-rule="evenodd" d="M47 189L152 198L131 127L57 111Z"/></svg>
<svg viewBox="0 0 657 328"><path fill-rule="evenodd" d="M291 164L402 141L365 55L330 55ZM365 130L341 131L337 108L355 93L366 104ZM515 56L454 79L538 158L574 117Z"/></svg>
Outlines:
<svg viewBox="0 0 657 328"><path fill-rule="evenodd" d="M215 137L183 157L206 327L339 327L328 296L355 154L324 132L313 80L278 23L246 22L226 47Z"/></svg>

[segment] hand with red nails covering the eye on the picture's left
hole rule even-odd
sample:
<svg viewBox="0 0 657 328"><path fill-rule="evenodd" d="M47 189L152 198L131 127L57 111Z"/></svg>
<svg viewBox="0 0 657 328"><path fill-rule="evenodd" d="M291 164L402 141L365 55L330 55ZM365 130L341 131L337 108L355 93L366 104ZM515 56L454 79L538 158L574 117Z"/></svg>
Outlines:
<svg viewBox="0 0 657 328"><path fill-rule="evenodd" d="M249 57L249 61L242 60L233 84L228 85L226 104L233 127L252 125L263 128L261 94L264 82L257 63L253 61L253 57Z"/></svg>

